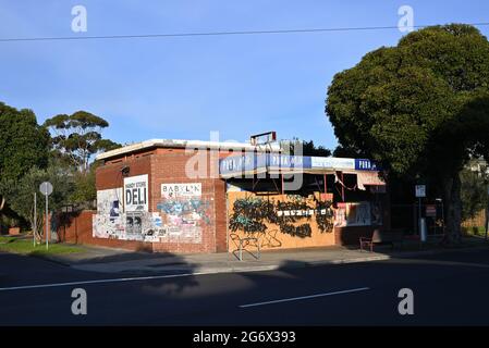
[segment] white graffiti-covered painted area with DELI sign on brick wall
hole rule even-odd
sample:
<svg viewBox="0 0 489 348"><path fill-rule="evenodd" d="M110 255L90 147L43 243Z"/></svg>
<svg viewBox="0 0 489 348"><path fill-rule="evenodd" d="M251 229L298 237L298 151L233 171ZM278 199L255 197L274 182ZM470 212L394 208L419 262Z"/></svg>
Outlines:
<svg viewBox="0 0 489 348"><path fill-rule="evenodd" d="M147 175L124 179L124 187L97 191L93 235L97 238L156 243L201 243L211 224L210 201L201 184L163 184L157 212L148 209Z"/></svg>

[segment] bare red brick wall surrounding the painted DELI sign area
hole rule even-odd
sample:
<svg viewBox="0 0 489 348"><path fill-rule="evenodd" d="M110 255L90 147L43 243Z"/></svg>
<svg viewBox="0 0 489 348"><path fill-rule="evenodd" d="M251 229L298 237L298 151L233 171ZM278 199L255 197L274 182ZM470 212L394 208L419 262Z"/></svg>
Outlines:
<svg viewBox="0 0 489 348"><path fill-rule="evenodd" d="M91 237L91 216L90 233L87 236L87 229L83 233L77 232L77 239L80 235L84 235L82 243L96 244L101 246L113 246L118 248L129 249L150 249L154 251L169 251L169 252L218 252L227 250L227 214L225 214L225 183L219 178L211 178L211 163L213 163L213 174L218 174L218 156L210 157L209 152L205 150L201 152L207 154L206 171L203 173L205 177L188 177L186 166L188 160L193 158L195 152L186 152L185 149L168 149L159 148L151 151L146 151L137 154L123 157L121 159L107 161L105 165L97 169L96 187L97 190L117 188L123 186L123 176L121 169L129 166L129 176L148 174L148 196L149 196L149 211L158 211L157 206L161 201L161 184L163 183L200 183L203 188L201 199L208 204L207 217L208 224L203 224L201 243L136 243L115 239L103 239ZM220 153L220 157L225 153ZM86 215L86 214L85 214ZM88 219L86 215L77 217ZM73 227L74 228L74 227ZM69 229L70 240L76 239L73 233Z"/></svg>

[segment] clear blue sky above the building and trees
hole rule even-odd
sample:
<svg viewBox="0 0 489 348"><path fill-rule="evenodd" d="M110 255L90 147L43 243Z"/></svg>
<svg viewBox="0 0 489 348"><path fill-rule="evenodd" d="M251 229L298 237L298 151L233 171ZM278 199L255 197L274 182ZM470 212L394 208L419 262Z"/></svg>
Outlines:
<svg viewBox="0 0 489 348"><path fill-rule="evenodd" d="M87 33L71 30L74 5ZM489 1L0 0L0 37L137 35L395 26L401 5L415 25L489 22ZM489 27L481 27L487 36ZM337 145L325 116L333 75L396 30L288 35L0 42L0 100L39 122L86 110L109 121L103 135L150 138L279 138Z"/></svg>

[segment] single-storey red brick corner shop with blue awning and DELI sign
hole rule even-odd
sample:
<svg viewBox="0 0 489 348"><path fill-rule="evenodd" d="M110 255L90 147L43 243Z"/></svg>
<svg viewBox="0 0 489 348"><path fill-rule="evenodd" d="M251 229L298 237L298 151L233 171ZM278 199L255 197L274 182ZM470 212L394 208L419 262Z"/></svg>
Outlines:
<svg viewBox="0 0 489 348"><path fill-rule="evenodd" d="M368 160L291 156L277 144L164 139L97 159L97 211L61 223L62 240L222 252L245 235L262 249L352 244L390 223L383 182Z"/></svg>

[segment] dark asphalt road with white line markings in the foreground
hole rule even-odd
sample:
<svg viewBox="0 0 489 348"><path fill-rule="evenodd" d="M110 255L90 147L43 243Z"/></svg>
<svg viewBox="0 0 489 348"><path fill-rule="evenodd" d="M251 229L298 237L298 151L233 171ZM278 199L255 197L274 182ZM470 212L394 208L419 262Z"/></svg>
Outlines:
<svg viewBox="0 0 489 348"><path fill-rule="evenodd" d="M124 277L0 253L0 325L489 325L489 250ZM71 311L74 288L87 294L86 315ZM401 288L413 290L412 315L398 311Z"/></svg>

